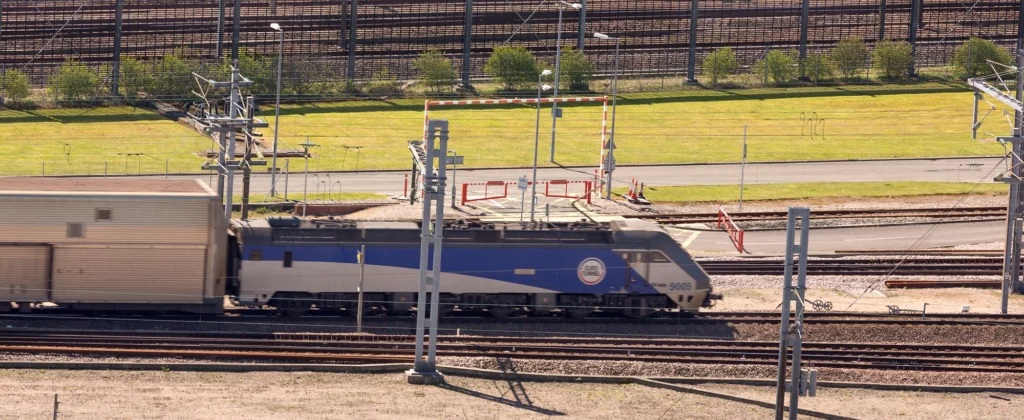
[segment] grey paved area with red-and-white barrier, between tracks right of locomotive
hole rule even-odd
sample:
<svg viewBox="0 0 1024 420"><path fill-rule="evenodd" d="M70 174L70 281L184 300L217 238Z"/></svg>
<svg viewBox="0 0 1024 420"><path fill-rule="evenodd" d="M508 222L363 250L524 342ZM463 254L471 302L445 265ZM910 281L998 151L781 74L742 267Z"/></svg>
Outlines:
<svg viewBox="0 0 1024 420"><path fill-rule="evenodd" d="M677 241L693 252L733 254L736 252L728 236L722 232L670 230ZM831 253L836 250L935 248L999 242L1006 235L1004 221L812 228L808 246L811 253ZM743 247L753 254L783 254L785 251L785 230L746 232L743 240Z"/></svg>

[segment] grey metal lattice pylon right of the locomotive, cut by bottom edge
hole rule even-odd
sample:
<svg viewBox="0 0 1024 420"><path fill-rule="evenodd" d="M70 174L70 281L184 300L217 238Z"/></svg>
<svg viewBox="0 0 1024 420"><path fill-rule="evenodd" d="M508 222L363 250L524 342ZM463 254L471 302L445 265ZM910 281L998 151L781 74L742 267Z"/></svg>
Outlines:
<svg viewBox="0 0 1024 420"><path fill-rule="evenodd" d="M797 221L800 221L800 244L796 244ZM790 380L790 419L796 420L800 386L804 378L800 369L801 350L804 343L804 292L807 289L807 239L810 234L811 210L806 207L791 207L785 233L785 271L782 278L782 321L779 327L778 378L775 393L775 419L782 419L785 405L785 366L790 347L793 347L793 363ZM793 286L794 257L797 257L797 286ZM796 301L797 311L790 323L792 303Z"/></svg>

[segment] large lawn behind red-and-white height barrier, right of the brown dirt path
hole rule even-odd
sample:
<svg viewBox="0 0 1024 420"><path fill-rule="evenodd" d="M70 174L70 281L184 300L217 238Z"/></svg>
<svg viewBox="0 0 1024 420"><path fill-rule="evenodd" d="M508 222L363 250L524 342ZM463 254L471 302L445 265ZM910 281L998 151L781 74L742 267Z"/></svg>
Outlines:
<svg viewBox="0 0 1024 420"><path fill-rule="evenodd" d="M620 164L735 162L748 125L750 161L838 160L999 155L994 142L972 140L972 93L959 85L849 86L794 89L687 90L635 93L618 101L615 153ZM273 125L273 110L263 115ZM536 109L434 107L449 120L450 148L477 167L527 166L532 160ZM1005 135L994 112L982 131ZM564 109L556 162L596 165L601 107ZM408 140L423 129L423 100L348 101L283 106L284 144L306 136L321 144L315 169L398 169L410 166ZM985 135L982 135L985 136ZM541 113L540 161L551 140L548 110Z"/></svg>

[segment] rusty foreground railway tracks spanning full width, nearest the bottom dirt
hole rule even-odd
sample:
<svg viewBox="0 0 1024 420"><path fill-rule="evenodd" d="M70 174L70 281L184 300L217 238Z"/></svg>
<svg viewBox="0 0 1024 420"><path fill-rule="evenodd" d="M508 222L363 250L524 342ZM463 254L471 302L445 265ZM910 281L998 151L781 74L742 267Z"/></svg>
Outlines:
<svg viewBox="0 0 1024 420"><path fill-rule="evenodd" d="M321 336L323 338L323 336ZM285 363L409 363L412 336L336 335L331 339L4 332L0 352L196 358ZM774 366L771 341L507 338L442 336L438 356L590 362L645 362ZM814 367L933 372L1024 373L1024 347L928 344L805 343Z"/></svg>

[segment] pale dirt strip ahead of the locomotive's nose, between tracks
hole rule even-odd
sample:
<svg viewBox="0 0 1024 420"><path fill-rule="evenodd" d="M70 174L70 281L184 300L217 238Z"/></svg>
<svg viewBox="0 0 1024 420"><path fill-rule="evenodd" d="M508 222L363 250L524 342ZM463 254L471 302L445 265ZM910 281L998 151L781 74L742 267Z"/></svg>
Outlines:
<svg viewBox="0 0 1024 420"><path fill-rule="evenodd" d="M716 288L715 292L722 293L725 298L711 311L776 310L782 301L782 292L779 290ZM927 310L930 313L959 312L963 305L971 306L971 313L998 313L1000 304L1000 291L994 289L883 290L860 296L863 290L808 289L805 298L808 301L831 302L834 311L860 312L887 312L889 305L921 310L928 303ZM1024 296L1011 295L1008 311L1024 313Z"/></svg>

